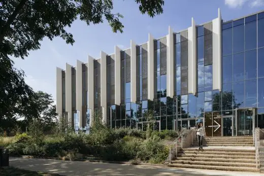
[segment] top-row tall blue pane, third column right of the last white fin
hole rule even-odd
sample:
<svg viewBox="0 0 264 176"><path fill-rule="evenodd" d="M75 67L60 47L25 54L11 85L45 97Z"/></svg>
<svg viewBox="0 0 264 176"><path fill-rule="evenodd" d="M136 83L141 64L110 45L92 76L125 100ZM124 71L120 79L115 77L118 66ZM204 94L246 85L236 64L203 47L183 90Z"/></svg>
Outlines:
<svg viewBox="0 0 264 176"><path fill-rule="evenodd" d="M245 24L245 50L257 47L257 22L252 21Z"/></svg>

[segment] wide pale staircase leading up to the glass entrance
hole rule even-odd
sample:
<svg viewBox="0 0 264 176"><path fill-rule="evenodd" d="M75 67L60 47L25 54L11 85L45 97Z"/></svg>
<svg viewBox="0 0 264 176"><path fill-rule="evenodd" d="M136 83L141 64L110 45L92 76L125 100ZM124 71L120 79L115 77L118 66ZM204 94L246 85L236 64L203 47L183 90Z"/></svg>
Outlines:
<svg viewBox="0 0 264 176"><path fill-rule="evenodd" d="M252 136L204 138L204 150L198 143L178 152L171 167L259 172L256 168ZM264 152L264 150L263 150ZM263 155L264 160L264 155Z"/></svg>

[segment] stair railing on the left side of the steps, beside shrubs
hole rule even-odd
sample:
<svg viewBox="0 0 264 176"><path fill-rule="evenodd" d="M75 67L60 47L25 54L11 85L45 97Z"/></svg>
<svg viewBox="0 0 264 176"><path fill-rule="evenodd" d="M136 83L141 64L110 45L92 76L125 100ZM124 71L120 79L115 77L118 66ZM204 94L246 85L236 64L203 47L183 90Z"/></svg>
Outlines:
<svg viewBox="0 0 264 176"><path fill-rule="evenodd" d="M187 134L189 134L189 133L191 133L191 144L193 144L193 140L195 139L195 134L193 135L193 133L195 133L194 129L182 130L180 132L179 136L175 140L173 140L171 143L169 143L169 145L170 145L169 163L170 164L171 164L171 161L172 161L172 146L175 145L175 155L177 156L177 154L178 154L178 144L180 143L181 144L180 149L183 149L182 138L186 137ZM180 142L179 142L179 139L181 139Z"/></svg>

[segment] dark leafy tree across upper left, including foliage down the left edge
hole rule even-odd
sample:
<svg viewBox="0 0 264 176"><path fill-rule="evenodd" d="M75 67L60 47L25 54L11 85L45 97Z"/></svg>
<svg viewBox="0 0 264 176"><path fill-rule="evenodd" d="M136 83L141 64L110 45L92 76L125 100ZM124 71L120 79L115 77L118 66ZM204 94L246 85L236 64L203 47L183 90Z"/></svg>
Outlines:
<svg viewBox="0 0 264 176"><path fill-rule="evenodd" d="M163 0L134 0L142 14L154 17L163 12ZM9 56L24 59L28 51L40 49L47 37L60 37L73 45L66 27L79 18L87 25L108 21L113 32L123 30L119 13L113 13L112 0L3 0L0 2L0 120L13 117L15 104L27 103L32 90L22 71L13 67ZM3 97L3 98L2 98ZM19 109L19 107L17 107Z"/></svg>

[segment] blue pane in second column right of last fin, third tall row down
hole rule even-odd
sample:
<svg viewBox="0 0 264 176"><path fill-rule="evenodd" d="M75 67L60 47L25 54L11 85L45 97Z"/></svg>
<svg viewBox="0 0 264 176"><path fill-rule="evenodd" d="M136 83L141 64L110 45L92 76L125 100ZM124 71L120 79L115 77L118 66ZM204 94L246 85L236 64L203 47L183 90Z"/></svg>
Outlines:
<svg viewBox="0 0 264 176"><path fill-rule="evenodd" d="M237 103L237 108L245 107L244 88L244 81L237 82L233 85L234 101Z"/></svg>

